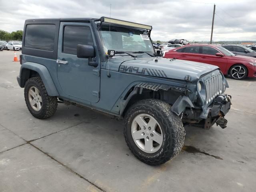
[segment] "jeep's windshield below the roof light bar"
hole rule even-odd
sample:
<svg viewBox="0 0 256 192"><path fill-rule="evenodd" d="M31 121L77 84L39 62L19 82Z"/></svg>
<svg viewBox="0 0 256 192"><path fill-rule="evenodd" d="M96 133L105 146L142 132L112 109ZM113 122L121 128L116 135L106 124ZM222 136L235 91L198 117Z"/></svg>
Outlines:
<svg viewBox="0 0 256 192"><path fill-rule="evenodd" d="M154 53L153 45L146 30L103 24L99 33L105 52L115 50Z"/></svg>

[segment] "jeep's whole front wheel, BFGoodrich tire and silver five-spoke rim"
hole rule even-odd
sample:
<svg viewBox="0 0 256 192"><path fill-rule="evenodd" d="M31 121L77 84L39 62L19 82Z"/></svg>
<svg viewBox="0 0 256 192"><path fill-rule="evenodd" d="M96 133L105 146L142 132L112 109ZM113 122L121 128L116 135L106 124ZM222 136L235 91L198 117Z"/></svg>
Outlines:
<svg viewBox="0 0 256 192"><path fill-rule="evenodd" d="M178 155L185 130L169 104L146 99L126 112L124 138L136 158L149 165L160 165Z"/></svg>

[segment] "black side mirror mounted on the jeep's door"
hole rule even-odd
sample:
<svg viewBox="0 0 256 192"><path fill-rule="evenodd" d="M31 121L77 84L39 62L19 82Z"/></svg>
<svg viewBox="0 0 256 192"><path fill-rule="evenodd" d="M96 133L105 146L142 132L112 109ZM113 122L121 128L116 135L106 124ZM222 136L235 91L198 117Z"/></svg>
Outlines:
<svg viewBox="0 0 256 192"><path fill-rule="evenodd" d="M92 61L92 58L95 57L94 47L91 45L81 45L76 46L76 56L78 58L88 58L88 65L97 67L98 63Z"/></svg>

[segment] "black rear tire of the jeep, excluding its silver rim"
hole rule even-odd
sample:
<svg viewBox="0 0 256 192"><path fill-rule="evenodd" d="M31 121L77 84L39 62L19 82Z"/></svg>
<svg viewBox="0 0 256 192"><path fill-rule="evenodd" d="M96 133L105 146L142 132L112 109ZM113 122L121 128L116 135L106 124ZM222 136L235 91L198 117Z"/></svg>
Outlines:
<svg viewBox="0 0 256 192"><path fill-rule="evenodd" d="M42 108L39 111L34 110L29 102L28 92L32 86L38 88L40 95L42 97ZM24 88L24 97L28 110L34 117L38 119L48 118L52 116L57 110L57 97L48 95L44 83L42 82L40 77L32 77L26 81Z"/></svg>

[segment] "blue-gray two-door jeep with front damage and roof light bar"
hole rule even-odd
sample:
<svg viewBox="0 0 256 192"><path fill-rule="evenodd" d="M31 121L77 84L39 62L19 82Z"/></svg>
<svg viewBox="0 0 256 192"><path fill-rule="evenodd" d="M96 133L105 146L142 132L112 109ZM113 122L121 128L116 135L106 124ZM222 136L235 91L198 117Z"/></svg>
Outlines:
<svg viewBox="0 0 256 192"><path fill-rule="evenodd" d="M58 103L124 118L124 138L142 162L163 164L182 149L184 125L226 127L230 96L217 66L159 57L152 26L113 18L26 20L20 87L36 118Z"/></svg>

